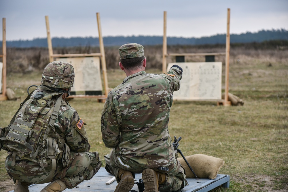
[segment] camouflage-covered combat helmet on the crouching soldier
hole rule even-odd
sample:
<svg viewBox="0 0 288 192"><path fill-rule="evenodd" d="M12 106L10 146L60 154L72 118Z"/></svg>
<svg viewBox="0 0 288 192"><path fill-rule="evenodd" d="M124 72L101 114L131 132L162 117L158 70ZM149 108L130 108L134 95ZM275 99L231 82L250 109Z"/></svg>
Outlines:
<svg viewBox="0 0 288 192"><path fill-rule="evenodd" d="M74 83L74 68L71 64L54 61L43 70L42 85L53 88L69 89Z"/></svg>

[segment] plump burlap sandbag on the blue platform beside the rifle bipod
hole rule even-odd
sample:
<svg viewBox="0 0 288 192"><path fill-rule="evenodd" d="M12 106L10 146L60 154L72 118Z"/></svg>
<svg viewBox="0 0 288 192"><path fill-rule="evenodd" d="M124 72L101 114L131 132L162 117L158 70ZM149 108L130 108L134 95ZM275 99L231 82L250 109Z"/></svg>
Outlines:
<svg viewBox="0 0 288 192"><path fill-rule="evenodd" d="M203 154L190 155L185 159L199 178L215 179L218 171L225 163L223 159ZM186 178L196 178L183 158L177 158L177 160L185 169Z"/></svg>

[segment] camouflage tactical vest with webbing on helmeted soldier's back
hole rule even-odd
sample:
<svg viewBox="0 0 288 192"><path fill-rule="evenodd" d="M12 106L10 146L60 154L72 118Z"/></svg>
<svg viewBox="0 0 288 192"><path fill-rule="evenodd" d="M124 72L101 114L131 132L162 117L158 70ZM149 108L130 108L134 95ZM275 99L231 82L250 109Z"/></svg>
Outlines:
<svg viewBox="0 0 288 192"><path fill-rule="evenodd" d="M50 122L53 108L51 104L48 103L55 103L56 99L61 97L61 95L62 93L47 91L44 94L43 90L41 91L37 88L33 93L33 97L30 97L29 100L23 103L15 116L15 120L9 125L10 131L5 137L6 141L4 141L3 145L6 150L16 151L20 158L23 158L31 152L31 155L33 155L33 151L37 147L42 146L37 143L39 139L40 141L44 140L42 132L45 133L46 129L48 129L48 131L50 130L47 124ZM51 131L49 133L51 133ZM57 135L52 133L50 136L57 137ZM60 143L58 144L59 148L62 149L64 142L62 145L60 145ZM53 151L54 155L59 155L55 149L51 149L51 151Z"/></svg>

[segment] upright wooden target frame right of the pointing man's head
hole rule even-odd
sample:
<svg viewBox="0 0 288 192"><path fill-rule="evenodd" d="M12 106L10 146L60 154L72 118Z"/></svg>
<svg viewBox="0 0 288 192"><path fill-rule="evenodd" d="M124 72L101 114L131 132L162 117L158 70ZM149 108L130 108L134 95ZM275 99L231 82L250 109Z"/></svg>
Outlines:
<svg viewBox="0 0 288 192"><path fill-rule="evenodd" d="M167 57L169 56L215 56L215 55L225 55L225 95L224 99L215 99L217 105L230 106L231 101L228 101L228 91L229 91L229 52L230 52L230 8L227 9L227 34L226 34L226 52L225 53L167 53L167 11L164 11L164 30L163 30L163 52L162 52L162 72L167 70ZM192 100L191 101L211 101L211 100Z"/></svg>

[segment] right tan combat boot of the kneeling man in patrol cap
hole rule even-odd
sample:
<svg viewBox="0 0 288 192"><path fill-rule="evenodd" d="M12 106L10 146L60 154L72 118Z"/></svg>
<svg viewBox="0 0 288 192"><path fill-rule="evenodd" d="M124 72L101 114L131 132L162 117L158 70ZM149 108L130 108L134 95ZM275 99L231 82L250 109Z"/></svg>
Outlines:
<svg viewBox="0 0 288 192"><path fill-rule="evenodd" d="M142 178L145 192L158 192L159 183L165 183L165 174L153 169L145 169L142 172Z"/></svg>

